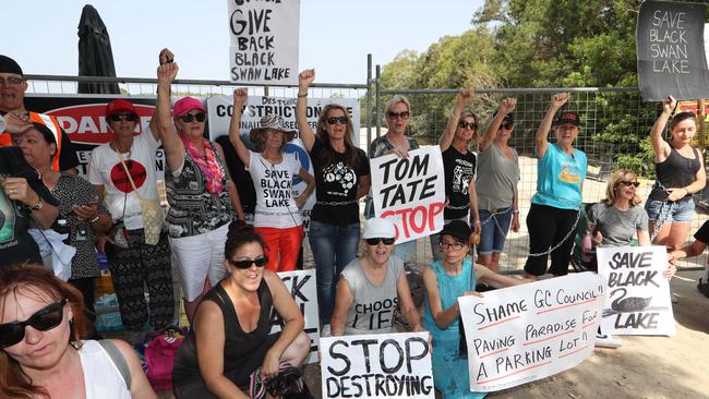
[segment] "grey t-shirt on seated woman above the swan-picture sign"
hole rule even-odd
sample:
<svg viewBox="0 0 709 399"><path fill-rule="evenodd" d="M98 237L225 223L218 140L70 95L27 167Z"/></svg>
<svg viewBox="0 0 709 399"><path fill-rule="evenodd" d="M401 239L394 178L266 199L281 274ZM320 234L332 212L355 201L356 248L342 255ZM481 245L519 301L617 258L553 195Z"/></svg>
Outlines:
<svg viewBox="0 0 709 399"><path fill-rule="evenodd" d="M602 246L625 246L638 230L648 229L648 214L641 206L630 206L628 210L621 210L605 202L593 204L589 209L588 222L603 234Z"/></svg>

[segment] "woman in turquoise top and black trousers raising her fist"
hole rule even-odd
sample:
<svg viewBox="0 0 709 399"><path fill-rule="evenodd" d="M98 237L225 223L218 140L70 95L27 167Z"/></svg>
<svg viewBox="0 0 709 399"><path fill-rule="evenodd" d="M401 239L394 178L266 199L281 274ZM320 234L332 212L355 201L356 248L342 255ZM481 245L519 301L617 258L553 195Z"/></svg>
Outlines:
<svg viewBox="0 0 709 399"><path fill-rule="evenodd" d="M527 215L530 254L525 264L525 276L531 279L546 273L550 253L552 265L549 273L566 275L574 246L587 166L586 154L574 148L574 140L580 132L578 113L561 111L554 128L556 143L546 141L554 114L570 97L568 93L552 96L534 138L534 152L539 158L537 193Z"/></svg>

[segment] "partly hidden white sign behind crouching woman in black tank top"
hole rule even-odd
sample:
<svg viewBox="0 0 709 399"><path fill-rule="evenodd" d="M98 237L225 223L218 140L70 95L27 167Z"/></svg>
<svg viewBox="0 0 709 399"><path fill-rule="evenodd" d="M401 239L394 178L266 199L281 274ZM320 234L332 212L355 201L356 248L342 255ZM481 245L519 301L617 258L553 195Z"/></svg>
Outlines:
<svg viewBox="0 0 709 399"><path fill-rule="evenodd" d="M315 269L281 271L278 277L284 281L286 288L300 312L305 318L305 334L310 337L310 355L307 363L317 363L317 347L320 344L320 317L317 315L317 288L315 286ZM280 331L284 321L276 309L271 313L271 334Z"/></svg>

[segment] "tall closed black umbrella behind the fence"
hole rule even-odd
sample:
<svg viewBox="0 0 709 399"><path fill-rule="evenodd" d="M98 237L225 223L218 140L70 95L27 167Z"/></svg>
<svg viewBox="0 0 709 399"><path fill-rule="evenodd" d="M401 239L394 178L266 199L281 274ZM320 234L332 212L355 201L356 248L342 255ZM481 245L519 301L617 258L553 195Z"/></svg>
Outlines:
<svg viewBox="0 0 709 399"><path fill-rule="evenodd" d="M79 20L79 76L116 77L113 51L98 11L84 5ZM80 83L79 93L119 94L118 83Z"/></svg>

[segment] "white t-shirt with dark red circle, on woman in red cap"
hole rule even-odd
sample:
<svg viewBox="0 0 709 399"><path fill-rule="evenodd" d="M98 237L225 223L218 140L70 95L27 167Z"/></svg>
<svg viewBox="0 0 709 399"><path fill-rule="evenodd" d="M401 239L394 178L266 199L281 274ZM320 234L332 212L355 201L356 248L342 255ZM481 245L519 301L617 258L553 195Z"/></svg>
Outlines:
<svg viewBox="0 0 709 399"><path fill-rule="evenodd" d="M131 149L119 155L109 143L94 148L88 160L88 181L94 185L104 185L106 207L112 219L123 218L125 228L143 228L141 204L133 192L131 181L121 165L123 158L131 172L133 182L144 198L157 198L157 173L155 172L155 152L160 146L149 129L133 137ZM123 208L125 213L123 213Z"/></svg>

